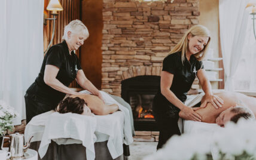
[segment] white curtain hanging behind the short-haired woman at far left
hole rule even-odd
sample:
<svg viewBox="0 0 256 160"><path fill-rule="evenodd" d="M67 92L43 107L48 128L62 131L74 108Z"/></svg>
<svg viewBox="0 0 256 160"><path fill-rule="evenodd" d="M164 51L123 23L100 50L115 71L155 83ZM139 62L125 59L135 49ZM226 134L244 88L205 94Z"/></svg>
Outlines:
<svg viewBox="0 0 256 160"><path fill-rule="evenodd" d="M0 1L0 100L16 109L14 125L26 119L25 92L41 67L44 0Z"/></svg>

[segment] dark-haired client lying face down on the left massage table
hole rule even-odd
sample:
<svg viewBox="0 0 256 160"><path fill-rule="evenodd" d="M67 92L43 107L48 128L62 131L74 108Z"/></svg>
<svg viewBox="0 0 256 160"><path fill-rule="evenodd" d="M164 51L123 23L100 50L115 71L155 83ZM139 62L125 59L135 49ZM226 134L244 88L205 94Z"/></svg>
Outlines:
<svg viewBox="0 0 256 160"><path fill-rule="evenodd" d="M92 112L91 112L92 110ZM90 94L72 95L60 101L56 107L59 113L78 113L81 115L108 115L118 110L117 104L106 105L97 96Z"/></svg>

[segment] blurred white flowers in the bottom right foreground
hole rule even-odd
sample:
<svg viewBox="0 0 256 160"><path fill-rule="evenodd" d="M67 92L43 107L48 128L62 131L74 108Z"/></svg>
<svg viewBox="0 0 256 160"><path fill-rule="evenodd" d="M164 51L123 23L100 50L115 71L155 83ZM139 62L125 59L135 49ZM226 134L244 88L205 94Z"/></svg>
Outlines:
<svg viewBox="0 0 256 160"><path fill-rule="evenodd" d="M207 134L182 134L173 136L153 155L153 159L256 159L256 121L240 119L225 128Z"/></svg>

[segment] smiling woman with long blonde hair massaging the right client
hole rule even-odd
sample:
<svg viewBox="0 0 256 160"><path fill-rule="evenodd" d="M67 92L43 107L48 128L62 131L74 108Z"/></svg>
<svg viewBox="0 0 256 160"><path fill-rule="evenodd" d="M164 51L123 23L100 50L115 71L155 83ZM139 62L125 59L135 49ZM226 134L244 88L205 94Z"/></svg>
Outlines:
<svg viewBox="0 0 256 160"><path fill-rule="evenodd" d="M223 104L220 97L212 94L211 84L206 78L201 61L205 57L210 40L209 30L205 26L193 26L163 60L161 88L153 101L153 112L160 131L157 149L173 135L181 134L178 128L180 110L187 119L201 121L202 117L195 109L184 104L187 91L190 90L196 76L205 92L200 107L212 103L218 109Z"/></svg>

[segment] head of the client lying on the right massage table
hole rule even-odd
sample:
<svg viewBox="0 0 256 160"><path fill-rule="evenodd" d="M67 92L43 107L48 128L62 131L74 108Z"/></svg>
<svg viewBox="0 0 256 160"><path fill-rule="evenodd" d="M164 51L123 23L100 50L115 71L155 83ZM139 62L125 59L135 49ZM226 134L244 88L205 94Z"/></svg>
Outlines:
<svg viewBox="0 0 256 160"><path fill-rule="evenodd" d="M235 106L221 112L216 118L216 123L221 127L224 127L227 122L232 121L236 123L240 118L255 119L255 116L248 107Z"/></svg>

